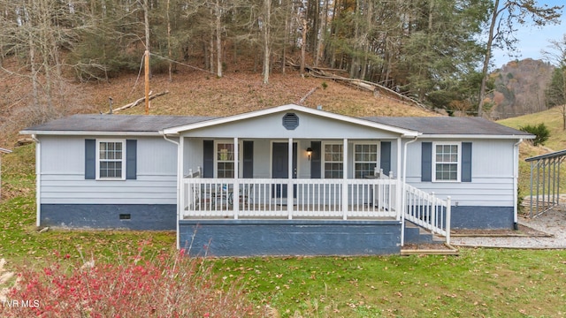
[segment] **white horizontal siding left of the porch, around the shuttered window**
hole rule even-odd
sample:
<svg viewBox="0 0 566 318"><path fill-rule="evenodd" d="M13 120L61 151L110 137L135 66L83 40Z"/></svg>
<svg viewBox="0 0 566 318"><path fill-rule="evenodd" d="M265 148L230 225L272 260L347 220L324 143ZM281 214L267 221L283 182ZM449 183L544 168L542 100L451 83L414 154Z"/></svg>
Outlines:
<svg viewBox="0 0 566 318"><path fill-rule="evenodd" d="M104 137L108 139L107 137ZM42 204L175 204L177 147L159 137L137 142L137 179L87 180L85 139L42 136Z"/></svg>

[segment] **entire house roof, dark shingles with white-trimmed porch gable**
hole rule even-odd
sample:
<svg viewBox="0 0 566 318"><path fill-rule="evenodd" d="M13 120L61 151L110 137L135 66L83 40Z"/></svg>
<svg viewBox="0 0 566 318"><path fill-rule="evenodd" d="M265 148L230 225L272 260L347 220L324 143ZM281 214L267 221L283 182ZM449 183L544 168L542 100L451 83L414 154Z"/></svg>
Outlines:
<svg viewBox="0 0 566 318"><path fill-rule="evenodd" d="M156 116L156 115L73 115L29 127L23 134L102 134L159 135L223 125L242 119L261 117L284 111L300 111L355 125L399 133L402 137L458 137L531 139L534 136L481 117L348 117L324 110L294 104L251 111L227 117Z"/></svg>

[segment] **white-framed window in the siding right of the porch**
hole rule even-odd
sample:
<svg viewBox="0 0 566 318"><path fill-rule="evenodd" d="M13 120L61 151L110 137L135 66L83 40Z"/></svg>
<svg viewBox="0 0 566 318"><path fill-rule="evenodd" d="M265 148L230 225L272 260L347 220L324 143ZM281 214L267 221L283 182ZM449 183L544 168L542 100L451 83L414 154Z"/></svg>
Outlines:
<svg viewBox="0 0 566 318"><path fill-rule="evenodd" d="M460 181L460 144L434 144L433 181Z"/></svg>

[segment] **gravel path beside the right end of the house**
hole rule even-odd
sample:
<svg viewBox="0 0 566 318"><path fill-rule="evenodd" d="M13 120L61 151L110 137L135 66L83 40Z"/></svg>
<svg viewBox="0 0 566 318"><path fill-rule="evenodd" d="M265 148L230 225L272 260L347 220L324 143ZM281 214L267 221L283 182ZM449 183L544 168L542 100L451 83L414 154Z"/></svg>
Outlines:
<svg viewBox="0 0 566 318"><path fill-rule="evenodd" d="M507 248L564 248L566 249L566 205L553 208L535 218L519 217L519 224L538 233L532 236L452 237L452 246L482 246ZM543 234L543 235L540 235Z"/></svg>

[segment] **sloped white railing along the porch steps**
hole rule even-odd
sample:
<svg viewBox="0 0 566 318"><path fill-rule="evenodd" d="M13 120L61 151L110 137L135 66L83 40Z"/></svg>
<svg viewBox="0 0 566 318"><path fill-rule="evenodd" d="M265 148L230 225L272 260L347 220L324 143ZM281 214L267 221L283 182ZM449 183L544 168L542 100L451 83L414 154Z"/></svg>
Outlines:
<svg viewBox="0 0 566 318"><path fill-rule="evenodd" d="M414 186L404 185L404 189L404 219L446 237L450 244L450 197L444 201Z"/></svg>

